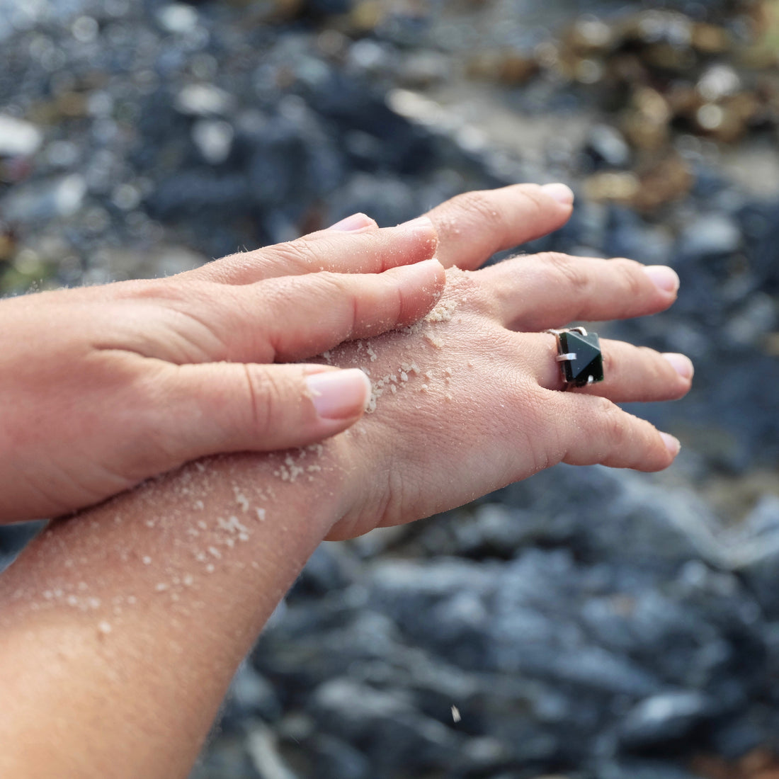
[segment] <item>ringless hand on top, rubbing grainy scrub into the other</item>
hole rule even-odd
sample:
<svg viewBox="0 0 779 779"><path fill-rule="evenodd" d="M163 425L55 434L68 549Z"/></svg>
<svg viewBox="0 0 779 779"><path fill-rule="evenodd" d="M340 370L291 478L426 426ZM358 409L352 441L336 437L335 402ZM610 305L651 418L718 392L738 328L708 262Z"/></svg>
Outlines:
<svg viewBox="0 0 779 779"><path fill-rule="evenodd" d="M165 280L0 302L0 522L347 428L364 375L270 364L414 322L442 288L439 263L421 262L435 245L429 220L378 230L355 215Z"/></svg>

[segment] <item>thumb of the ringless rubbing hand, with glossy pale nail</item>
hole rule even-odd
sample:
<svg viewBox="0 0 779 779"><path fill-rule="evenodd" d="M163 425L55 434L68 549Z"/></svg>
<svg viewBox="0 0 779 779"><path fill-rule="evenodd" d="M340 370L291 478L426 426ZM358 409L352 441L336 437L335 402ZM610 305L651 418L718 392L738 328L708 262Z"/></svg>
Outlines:
<svg viewBox="0 0 779 779"><path fill-rule="evenodd" d="M326 365L168 364L157 384L150 427L163 468L208 454L308 446L353 425L371 396L361 370Z"/></svg>

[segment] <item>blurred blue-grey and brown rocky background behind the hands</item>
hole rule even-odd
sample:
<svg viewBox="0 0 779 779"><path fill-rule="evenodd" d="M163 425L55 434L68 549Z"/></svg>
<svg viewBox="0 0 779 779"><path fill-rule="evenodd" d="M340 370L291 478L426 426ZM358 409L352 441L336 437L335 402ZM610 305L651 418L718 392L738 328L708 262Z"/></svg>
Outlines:
<svg viewBox="0 0 779 779"><path fill-rule="evenodd" d="M523 251L682 277L598 328L696 363L636 409L675 467L324 544L193 779L779 777L779 0L0 0L0 47L3 294L523 181L577 196Z"/></svg>

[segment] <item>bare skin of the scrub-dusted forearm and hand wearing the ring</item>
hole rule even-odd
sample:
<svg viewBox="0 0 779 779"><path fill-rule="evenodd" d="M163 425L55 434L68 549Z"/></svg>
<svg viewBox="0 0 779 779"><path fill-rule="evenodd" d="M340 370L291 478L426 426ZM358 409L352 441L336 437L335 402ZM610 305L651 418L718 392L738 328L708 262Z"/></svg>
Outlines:
<svg viewBox="0 0 779 779"><path fill-rule="evenodd" d="M2 577L0 773L185 777L234 668L323 538L560 461L671 464L678 442L612 401L681 397L689 361L605 341L606 381L562 393L540 330L659 312L672 271L562 256L472 270L566 207L530 186L468 197L431 213L439 256L468 270L449 270L428 319L325 357L370 372L372 413L321 446L190 464L54 523ZM468 221L474 199L489 224Z"/></svg>

